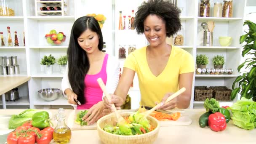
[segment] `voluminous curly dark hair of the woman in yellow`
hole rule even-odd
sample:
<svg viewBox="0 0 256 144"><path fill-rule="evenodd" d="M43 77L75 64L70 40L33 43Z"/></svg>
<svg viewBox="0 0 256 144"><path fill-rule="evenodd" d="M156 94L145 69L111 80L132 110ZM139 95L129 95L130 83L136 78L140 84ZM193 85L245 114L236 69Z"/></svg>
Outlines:
<svg viewBox="0 0 256 144"><path fill-rule="evenodd" d="M135 14L134 27L138 34L144 33L144 20L150 14L156 14L165 21L166 35L170 37L181 30L181 20L179 14L181 11L170 1L148 0L138 7Z"/></svg>

